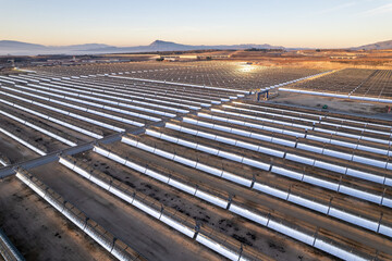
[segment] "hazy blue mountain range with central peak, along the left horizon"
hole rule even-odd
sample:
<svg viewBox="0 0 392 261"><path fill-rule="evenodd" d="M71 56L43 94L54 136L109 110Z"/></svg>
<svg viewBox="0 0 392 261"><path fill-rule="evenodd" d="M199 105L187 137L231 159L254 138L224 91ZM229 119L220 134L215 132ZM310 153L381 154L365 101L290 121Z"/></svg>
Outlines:
<svg viewBox="0 0 392 261"><path fill-rule="evenodd" d="M41 46L21 41L0 41L0 55L35 55L35 54L91 54L91 53L124 53L124 52L157 52L157 51L192 51L192 50L241 50L241 49L284 49L270 45L233 45L233 46L188 46L172 41L156 40L148 46L115 47L101 44L74 46Z"/></svg>

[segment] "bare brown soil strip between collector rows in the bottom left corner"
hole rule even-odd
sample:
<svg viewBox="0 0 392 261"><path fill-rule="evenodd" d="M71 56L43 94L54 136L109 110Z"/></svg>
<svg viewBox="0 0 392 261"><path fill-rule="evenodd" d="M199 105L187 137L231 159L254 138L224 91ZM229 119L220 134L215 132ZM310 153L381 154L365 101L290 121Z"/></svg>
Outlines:
<svg viewBox="0 0 392 261"><path fill-rule="evenodd" d="M26 260L115 260L14 176L0 181L0 227Z"/></svg>

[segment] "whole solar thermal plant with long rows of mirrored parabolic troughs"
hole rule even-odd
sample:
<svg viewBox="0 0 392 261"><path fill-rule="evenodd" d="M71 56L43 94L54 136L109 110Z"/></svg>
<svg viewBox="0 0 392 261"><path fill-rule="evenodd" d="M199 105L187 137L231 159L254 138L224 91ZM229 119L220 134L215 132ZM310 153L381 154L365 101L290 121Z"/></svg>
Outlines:
<svg viewBox="0 0 392 261"><path fill-rule="evenodd" d="M388 70L131 62L0 75L0 260L392 260ZM354 101L356 102L356 101Z"/></svg>

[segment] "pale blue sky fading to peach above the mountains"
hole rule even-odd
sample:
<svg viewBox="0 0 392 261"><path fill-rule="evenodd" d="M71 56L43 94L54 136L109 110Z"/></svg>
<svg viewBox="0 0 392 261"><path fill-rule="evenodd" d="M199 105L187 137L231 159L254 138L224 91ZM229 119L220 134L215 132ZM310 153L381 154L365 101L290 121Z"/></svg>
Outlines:
<svg viewBox="0 0 392 261"><path fill-rule="evenodd" d="M352 47L392 40L391 0L0 0L0 39L42 45L271 44Z"/></svg>

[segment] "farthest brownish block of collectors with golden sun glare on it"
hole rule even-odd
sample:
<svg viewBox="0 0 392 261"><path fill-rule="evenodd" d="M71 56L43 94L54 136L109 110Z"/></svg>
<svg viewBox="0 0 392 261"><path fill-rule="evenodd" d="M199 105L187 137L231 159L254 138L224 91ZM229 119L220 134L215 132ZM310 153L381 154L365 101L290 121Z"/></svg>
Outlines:
<svg viewBox="0 0 392 261"><path fill-rule="evenodd" d="M146 67L150 65L150 69ZM134 69L139 65L140 70ZM164 69L154 69L155 66L162 66ZM167 82L181 82L184 84L194 84L201 86L215 86L233 89L257 89L261 87L269 87L284 82L297 79L304 76L317 74L317 70L304 69L269 69L264 66L253 66L252 72L242 72L242 66L238 63L192 63L189 66L184 64L156 65L154 63L137 63L137 64L122 64L121 66L103 66L83 65L73 66L70 69L53 67L39 69L40 72L68 75L88 75L88 74L131 74L137 78L149 78ZM143 67L143 69L142 69Z"/></svg>

